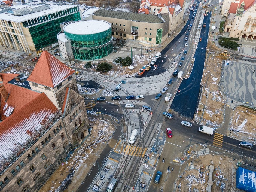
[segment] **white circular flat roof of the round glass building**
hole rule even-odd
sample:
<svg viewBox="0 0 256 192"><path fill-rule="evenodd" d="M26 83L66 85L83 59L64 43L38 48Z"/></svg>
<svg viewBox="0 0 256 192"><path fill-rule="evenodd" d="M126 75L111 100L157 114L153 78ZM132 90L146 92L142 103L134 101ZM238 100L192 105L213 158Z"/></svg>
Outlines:
<svg viewBox="0 0 256 192"><path fill-rule="evenodd" d="M101 20L83 20L69 23L63 27L63 31L71 34L87 35L108 30L111 24Z"/></svg>

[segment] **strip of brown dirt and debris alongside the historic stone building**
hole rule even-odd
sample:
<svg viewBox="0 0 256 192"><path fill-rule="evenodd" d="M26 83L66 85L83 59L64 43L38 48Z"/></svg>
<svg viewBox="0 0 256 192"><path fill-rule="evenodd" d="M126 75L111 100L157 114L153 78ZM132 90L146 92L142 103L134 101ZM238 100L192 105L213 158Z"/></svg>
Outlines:
<svg viewBox="0 0 256 192"><path fill-rule="evenodd" d="M62 163L59 166L41 188L40 192L55 191L67 177L72 167L76 169L75 175L72 178L71 184L64 192L78 190L78 187L90 172L93 163L95 163L115 130L114 125L106 120L101 120L101 118L89 118L89 123L93 126L91 136L76 149L66 163Z"/></svg>

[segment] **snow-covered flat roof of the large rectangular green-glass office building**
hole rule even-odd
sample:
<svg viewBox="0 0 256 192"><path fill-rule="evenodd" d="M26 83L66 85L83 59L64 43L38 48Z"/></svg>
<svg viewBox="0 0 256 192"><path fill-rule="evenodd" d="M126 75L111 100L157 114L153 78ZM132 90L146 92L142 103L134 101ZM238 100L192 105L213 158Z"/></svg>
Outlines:
<svg viewBox="0 0 256 192"><path fill-rule="evenodd" d="M56 13L58 11L63 11L63 10L66 10L68 8L77 7L77 6L78 5L54 4L54 5L50 5L50 9L45 9L45 10L42 10L42 11L38 11L38 12L35 12L35 13L26 14L26 15L22 15L22 16L9 14L7 12L6 13L0 13L0 19L1 20L7 20L7 21L14 21L14 22L23 22L23 21L27 21L27 20L30 20L30 19L34 19L34 18L37 18L37 17L44 16L44 15L49 15L51 13ZM24 7L27 7L27 6L26 6L26 4L21 4L21 5L11 6L11 8L13 8L13 7L15 7L15 9L19 9L19 8L24 8Z"/></svg>

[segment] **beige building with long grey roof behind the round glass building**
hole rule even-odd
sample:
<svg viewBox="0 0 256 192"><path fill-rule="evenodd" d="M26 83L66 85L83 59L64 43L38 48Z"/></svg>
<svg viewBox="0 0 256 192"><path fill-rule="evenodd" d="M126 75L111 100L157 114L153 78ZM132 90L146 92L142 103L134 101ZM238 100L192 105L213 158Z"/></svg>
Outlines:
<svg viewBox="0 0 256 192"><path fill-rule="evenodd" d="M93 19L111 23L115 38L139 40L144 46L159 46L169 33L169 14L158 15L130 13L99 9L93 13Z"/></svg>

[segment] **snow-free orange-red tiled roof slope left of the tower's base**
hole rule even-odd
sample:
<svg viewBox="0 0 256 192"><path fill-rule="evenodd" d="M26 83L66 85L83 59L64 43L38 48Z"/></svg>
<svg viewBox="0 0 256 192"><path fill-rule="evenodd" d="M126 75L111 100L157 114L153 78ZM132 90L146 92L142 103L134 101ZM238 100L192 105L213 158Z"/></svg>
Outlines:
<svg viewBox="0 0 256 192"><path fill-rule="evenodd" d="M31 102L33 99L35 99L40 95L40 93L38 92L26 89L24 87L20 87L18 85L10 84L10 83L6 83L4 86L9 95L6 102L5 102L5 99L0 95L0 99L1 99L0 119L1 120L4 120L7 118L7 116L4 115L4 113L5 111L7 111L8 107L14 107L14 110L12 113L15 113L16 111L22 109L25 105L27 105L29 102Z"/></svg>

